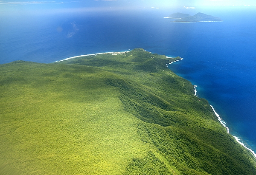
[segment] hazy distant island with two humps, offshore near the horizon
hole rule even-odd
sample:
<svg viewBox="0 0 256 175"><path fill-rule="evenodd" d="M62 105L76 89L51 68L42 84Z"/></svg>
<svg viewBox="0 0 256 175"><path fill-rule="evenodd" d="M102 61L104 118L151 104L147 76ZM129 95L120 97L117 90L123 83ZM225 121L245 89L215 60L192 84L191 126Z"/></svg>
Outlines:
<svg viewBox="0 0 256 175"><path fill-rule="evenodd" d="M189 14L182 13L174 13L169 15L167 18L177 18L177 20L173 21L174 23L196 23L196 22L216 22L222 21L219 17L213 17L211 15L207 15L204 13L198 13L194 16L190 16Z"/></svg>

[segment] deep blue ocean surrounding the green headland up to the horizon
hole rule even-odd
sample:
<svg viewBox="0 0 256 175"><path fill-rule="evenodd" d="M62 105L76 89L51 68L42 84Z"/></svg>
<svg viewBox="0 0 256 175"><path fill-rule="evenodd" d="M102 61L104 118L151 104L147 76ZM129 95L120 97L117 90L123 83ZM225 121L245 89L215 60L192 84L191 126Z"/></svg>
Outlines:
<svg viewBox="0 0 256 175"><path fill-rule="evenodd" d="M174 10L80 11L0 17L0 64L144 48L180 56L169 68L198 85L230 133L256 151L256 9L189 11L223 22L170 23Z"/></svg>

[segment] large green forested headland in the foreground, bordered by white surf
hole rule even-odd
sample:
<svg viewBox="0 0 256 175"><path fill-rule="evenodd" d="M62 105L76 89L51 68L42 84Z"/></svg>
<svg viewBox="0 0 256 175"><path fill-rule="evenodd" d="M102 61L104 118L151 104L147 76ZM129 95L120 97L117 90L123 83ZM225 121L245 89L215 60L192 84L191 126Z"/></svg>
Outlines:
<svg viewBox="0 0 256 175"><path fill-rule="evenodd" d="M134 49L0 65L0 174L255 175L206 99Z"/></svg>

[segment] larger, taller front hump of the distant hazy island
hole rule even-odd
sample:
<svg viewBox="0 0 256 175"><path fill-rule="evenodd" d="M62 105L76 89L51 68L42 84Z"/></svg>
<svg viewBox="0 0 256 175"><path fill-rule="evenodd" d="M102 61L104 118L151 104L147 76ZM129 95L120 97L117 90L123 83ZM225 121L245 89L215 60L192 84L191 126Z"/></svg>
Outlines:
<svg viewBox="0 0 256 175"><path fill-rule="evenodd" d="M185 16L187 14L183 14L180 16ZM187 17L181 17L180 19L175 20L174 22L217 22L222 21L219 17L213 17L211 15L203 14L203 13L197 13L194 16L187 16Z"/></svg>

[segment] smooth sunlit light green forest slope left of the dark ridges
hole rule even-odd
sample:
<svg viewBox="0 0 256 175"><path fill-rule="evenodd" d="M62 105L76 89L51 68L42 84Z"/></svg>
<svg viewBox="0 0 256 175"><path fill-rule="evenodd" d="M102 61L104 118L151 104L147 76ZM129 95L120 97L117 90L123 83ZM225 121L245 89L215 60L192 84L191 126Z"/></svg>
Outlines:
<svg viewBox="0 0 256 175"><path fill-rule="evenodd" d="M146 155L138 119L103 82L112 74L29 62L1 71L0 159L11 167L24 174L120 174L131 158Z"/></svg>

